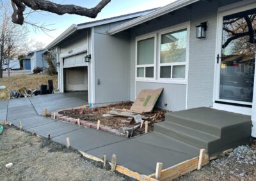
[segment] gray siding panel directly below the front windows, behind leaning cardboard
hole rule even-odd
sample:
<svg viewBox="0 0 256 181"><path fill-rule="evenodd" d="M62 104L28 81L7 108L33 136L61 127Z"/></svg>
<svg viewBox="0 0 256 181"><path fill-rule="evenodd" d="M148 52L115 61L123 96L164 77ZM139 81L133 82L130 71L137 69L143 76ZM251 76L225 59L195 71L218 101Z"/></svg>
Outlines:
<svg viewBox="0 0 256 181"><path fill-rule="evenodd" d="M165 110L179 111L186 109L186 85L173 83L136 82L136 95L142 89L164 88L156 106Z"/></svg>

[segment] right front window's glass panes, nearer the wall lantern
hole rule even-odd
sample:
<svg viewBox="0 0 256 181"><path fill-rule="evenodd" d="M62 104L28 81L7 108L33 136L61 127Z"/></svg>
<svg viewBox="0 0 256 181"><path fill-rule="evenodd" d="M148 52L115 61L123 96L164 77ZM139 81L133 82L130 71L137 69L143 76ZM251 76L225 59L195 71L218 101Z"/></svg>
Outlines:
<svg viewBox="0 0 256 181"><path fill-rule="evenodd" d="M161 34L159 78L186 78L187 29Z"/></svg>

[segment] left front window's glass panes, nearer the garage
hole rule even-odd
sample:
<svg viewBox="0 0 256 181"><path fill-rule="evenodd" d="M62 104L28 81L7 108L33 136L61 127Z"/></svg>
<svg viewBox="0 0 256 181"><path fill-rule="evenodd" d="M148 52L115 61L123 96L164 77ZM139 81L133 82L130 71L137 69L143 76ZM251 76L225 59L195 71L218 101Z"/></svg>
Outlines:
<svg viewBox="0 0 256 181"><path fill-rule="evenodd" d="M137 41L137 78L154 78L155 37Z"/></svg>

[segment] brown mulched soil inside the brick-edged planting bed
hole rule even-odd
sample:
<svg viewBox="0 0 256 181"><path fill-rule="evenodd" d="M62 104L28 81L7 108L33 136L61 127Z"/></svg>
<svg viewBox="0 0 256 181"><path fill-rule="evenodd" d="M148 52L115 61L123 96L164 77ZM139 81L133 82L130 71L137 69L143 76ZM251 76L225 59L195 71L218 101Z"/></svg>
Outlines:
<svg viewBox="0 0 256 181"><path fill-rule="evenodd" d="M127 119L125 117L119 117L119 116L103 117L102 115L109 112L111 108L129 110L131 106L132 106L132 102L122 102L122 103L117 103L115 105L102 106L98 108L81 108L81 109L64 110L59 113L67 117L86 120L94 124L97 124L97 121L100 120L100 125L108 126L108 127L112 127L114 129L120 130L121 127L134 127L140 123L136 124L136 122L132 120L131 124L125 124L121 122L122 120ZM148 132L153 131L155 122L164 121L164 113L166 112L167 112L166 110L154 108L154 110L151 113L143 114L146 117L152 117L157 113L159 113L159 117L157 117L156 120L153 120L153 119L148 120ZM134 130L132 133L132 136L138 136L143 133L145 133L145 124L143 124L143 127Z"/></svg>

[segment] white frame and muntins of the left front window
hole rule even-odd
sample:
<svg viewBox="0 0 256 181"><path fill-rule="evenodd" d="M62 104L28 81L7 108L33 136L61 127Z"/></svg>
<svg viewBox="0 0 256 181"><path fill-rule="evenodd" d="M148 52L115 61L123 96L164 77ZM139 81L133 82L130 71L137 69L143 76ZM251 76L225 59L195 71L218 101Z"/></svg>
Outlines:
<svg viewBox="0 0 256 181"><path fill-rule="evenodd" d="M138 41L141 40L147 40L149 38L154 38L154 64L142 64L142 65L137 65L138 61L138 56L137 56L137 51L138 51ZM138 36L136 37L136 42L135 42L135 80L136 81L148 81L148 80L156 80L156 48L157 48L157 34L146 34L145 36ZM148 67L153 67L154 68L154 77L146 77L146 68ZM144 68L144 77L137 77L137 68Z"/></svg>

